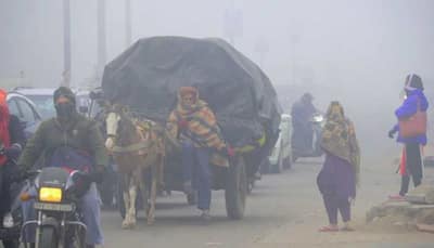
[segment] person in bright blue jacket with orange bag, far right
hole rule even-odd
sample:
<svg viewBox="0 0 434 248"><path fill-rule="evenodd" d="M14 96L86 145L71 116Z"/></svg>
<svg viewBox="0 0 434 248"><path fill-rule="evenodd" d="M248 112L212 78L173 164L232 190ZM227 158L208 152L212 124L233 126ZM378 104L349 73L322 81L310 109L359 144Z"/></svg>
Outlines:
<svg viewBox="0 0 434 248"><path fill-rule="evenodd" d="M388 131L388 136L394 138L398 132L397 142L405 145L399 167L401 184L398 195L391 195L391 199L403 200L408 192L410 175L414 187L422 183L423 165L421 148L426 145L426 110L427 100L423 94L422 79L410 74L406 77L406 92L404 103L395 110L398 123Z"/></svg>

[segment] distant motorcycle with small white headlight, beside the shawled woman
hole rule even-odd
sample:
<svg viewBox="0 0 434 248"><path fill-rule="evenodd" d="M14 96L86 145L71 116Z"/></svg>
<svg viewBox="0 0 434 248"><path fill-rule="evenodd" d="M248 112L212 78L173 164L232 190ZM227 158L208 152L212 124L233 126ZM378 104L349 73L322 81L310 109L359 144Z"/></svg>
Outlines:
<svg viewBox="0 0 434 248"><path fill-rule="evenodd" d="M299 148L296 142L292 145L292 161L295 162L301 157L321 157L323 151L321 148L321 132L322 127L326 123L326 119L322 114L316 113L310 119L310 123L314 130L312 147L310 149Z"/></svg>

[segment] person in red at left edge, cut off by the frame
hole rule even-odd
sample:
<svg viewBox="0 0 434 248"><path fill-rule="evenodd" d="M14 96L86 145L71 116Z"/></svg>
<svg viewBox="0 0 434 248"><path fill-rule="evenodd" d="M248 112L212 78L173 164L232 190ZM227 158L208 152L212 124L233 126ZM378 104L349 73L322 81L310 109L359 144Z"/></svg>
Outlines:
<svg viewBox="0 0 434 248"><path fill-rule="evenodd" d="M16 160L25 143L25 135L20 119L9 113L7 92L0 89L0 217L2 226L12 227L11 188L12 177L16 174ZM10 247L9 240L3 240L4 247Z"/></svg>

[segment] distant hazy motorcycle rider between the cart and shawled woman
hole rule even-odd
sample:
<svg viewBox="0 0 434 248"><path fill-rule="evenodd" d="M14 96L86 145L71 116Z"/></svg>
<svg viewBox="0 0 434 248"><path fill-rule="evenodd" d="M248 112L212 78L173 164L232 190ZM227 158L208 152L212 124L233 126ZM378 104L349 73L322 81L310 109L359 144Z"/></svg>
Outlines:
<svg viewBox="0 0 434 248"><path fill-rule="evenodd" d="M291 109L293 134L291 139L292 147L303 154L310 154L314 151L314 128L311 118L317 108L312 104L314 96L304 93L299 101L294 103Z"/></svg>

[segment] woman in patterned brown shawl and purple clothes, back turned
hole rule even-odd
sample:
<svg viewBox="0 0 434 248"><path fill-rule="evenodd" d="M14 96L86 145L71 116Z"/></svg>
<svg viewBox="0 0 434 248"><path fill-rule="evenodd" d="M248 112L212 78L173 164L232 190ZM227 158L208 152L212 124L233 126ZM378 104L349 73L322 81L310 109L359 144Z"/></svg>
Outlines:
<svg viewBox="0 0 434 248"><path fill-rule="evenodd" d="M322 148L326 161L318 174L317 183L322 194L329 225L320 232L337 232L337 212L341 212L344 226L341 231L354 231L349 226L350 203L356 197L356 184L360 171L360 149L352 121L339 102L332 102L326 116L322 130Z"/></svg>

